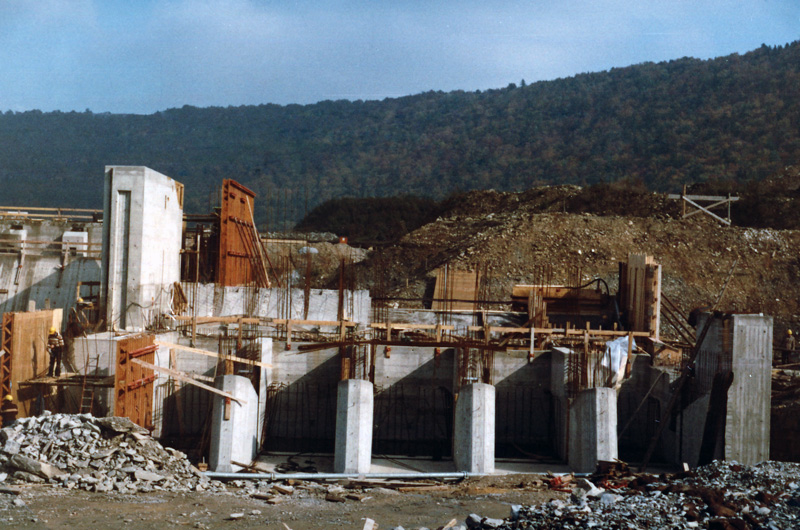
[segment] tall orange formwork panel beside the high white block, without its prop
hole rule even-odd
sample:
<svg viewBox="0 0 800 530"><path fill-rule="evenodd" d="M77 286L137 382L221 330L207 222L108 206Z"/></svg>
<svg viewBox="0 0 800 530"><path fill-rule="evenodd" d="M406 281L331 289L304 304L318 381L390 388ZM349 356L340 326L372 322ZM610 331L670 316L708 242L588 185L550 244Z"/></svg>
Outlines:
<svg viewBox="0 0 800 530"><path fill-rule="evenodd" d="M256 194L235 180L222 181L219 218L219 264L217 283L246 285L255 278L252 242L243 237L243 223L252 230L253 203Z"/></svg>

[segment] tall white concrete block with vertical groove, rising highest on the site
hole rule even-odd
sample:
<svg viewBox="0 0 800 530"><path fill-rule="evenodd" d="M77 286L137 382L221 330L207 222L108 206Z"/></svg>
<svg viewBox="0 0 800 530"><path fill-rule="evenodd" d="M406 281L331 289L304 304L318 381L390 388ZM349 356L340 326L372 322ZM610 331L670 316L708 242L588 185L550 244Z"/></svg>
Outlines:
<svg viewBox="0 0 800 530"><path fill-rule="evenodd" d="M112 328L142 330L180 281L182 185L143 166L107 166L102 295Z"/></svg>

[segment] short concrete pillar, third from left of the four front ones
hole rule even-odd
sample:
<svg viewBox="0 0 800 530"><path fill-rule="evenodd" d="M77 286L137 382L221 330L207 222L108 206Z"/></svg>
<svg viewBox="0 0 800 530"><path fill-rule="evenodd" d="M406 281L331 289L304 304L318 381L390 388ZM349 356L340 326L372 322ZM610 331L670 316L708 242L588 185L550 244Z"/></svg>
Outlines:
<svg viewBox="0 0 800 530"><path fill-rule="evenodd" d="M494 403L492 385L473 383L458 392L454 432L456 470L494 472Z"/></svg>

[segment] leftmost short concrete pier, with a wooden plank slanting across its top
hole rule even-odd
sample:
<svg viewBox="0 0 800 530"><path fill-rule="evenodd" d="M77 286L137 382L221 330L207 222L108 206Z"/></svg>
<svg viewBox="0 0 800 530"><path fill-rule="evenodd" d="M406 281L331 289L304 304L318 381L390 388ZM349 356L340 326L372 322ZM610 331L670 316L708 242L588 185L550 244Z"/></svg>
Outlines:
<svg viewBox="0 0 800 530"><path fill-rule="evenodd" d="M236 472L242 468L232 462L250 463L258 452L258 395L250 380L240 375L219 376L215 386L246 401L231 400L226 405L227 398L215 394L211 413L208 465L213 471Z"/></svg>

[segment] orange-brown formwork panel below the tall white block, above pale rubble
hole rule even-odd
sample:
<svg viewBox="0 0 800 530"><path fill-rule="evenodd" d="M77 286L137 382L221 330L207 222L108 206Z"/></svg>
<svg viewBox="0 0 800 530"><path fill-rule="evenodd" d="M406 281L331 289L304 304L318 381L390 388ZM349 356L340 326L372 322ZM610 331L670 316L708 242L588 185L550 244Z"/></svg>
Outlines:
<svg viewBox="0 0 800 530"><path fill-rule="evenodd" d="M117 367L114 382L114 415L153 429L153 382L156 374L133 362L139 359L155 364L157 346L154 335L136 335L117 343Z"/></svg>

